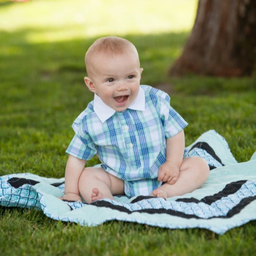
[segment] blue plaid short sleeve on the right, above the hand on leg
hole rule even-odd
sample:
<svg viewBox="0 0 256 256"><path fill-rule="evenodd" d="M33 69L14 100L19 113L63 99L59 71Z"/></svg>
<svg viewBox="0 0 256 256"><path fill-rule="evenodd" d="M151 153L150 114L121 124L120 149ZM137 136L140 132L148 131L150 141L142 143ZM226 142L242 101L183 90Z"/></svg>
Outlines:
<svg viewBox="0 0 256 256"><path fill-rule="evenodd" d="M182 131L188 123L170 106L170 96L164 93L161 97L160 118L163 124L165 137L170 138Z"/></svg>

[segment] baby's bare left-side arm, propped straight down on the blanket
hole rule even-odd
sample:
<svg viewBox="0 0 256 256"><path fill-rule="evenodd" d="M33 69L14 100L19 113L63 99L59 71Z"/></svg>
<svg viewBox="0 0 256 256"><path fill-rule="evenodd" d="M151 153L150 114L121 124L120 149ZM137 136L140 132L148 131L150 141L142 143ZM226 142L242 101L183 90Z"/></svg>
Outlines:
<svg viewBox="0 0 256 256"><path fill-rule="evenodd" d="M69 156L65 170L65 194L61 199L69 201L82 201L78 189L78 181L85 168L85 160Z"/></svg>

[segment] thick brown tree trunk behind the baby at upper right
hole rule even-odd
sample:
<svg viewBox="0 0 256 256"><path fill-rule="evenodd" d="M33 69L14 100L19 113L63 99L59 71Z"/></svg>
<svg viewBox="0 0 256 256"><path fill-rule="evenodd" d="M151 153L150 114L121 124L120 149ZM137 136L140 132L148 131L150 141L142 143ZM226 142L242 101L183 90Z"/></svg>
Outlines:
<svg viewBox="0 0 256 256"><path fill-rule="evenodd" d="M250 75L256 63L256 0L199 0L195 24L171 75Z"/></svg>

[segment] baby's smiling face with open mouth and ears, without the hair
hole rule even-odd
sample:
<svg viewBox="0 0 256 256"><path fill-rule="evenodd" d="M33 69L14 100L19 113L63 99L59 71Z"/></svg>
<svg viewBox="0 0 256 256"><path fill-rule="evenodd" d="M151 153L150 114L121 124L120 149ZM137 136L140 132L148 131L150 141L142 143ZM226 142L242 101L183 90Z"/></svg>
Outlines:
<svg viewBox="0 0 256 256"><path fill-rule="evenodd" d="M101 54L94 58L88 88L116 111L126 110L139 92L141 73L135 53Z"/></svg>

